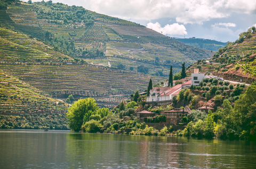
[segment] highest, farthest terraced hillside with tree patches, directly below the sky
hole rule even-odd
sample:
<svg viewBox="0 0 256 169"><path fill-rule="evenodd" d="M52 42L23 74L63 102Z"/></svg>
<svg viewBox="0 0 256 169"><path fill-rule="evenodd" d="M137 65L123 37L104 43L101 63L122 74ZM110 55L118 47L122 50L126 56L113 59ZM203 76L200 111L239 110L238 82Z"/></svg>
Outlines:
<svg viewBox="0 0 256 169"><path fill-rule="evenodd" d="M121 63L126 70L140 71L138 67L144 65L148 71L141 73L167 78L171 65L178 73L183 61L189 65L211 55L211 51L185 45L137 23L78 6L50 1L17 3L9 5L7 14L0 13L2 23L42 39L55 51L86 61L94 58L105 66L119 68ZM69 43L63 43L67 39Z"/></svg>

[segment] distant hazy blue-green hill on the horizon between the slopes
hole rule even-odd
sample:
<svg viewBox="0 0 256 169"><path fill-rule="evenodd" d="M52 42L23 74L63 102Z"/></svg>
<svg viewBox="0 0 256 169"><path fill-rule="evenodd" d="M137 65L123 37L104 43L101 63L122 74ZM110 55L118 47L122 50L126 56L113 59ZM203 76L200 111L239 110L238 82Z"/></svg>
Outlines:
<svg viewBox="0 0 256 169"><path fill-rule="evenodd" d="M218 42L210 39L202 39L202 38L174 38L176 41L183 42L187 45L200 47L202 49L218 51L220 47L225 47L227 43Z"/></svg>

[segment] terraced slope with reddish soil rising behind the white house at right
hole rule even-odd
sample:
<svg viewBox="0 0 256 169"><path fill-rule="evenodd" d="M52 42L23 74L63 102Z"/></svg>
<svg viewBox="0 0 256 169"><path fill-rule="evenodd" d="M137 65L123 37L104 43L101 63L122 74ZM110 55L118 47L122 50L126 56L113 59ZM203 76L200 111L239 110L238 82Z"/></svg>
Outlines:
<svg viewBox="0 0 256 169"><path fill-rule="evenodd" d="M245 32L243 40L228 43L215 53L211 60L198 60L187 70L193 73L194 68L200 68L201 73L213 73L216 76L235 82L251 84L256 79L256 33L255 29ZM244 33L243 33L244 34Z"/></svg>

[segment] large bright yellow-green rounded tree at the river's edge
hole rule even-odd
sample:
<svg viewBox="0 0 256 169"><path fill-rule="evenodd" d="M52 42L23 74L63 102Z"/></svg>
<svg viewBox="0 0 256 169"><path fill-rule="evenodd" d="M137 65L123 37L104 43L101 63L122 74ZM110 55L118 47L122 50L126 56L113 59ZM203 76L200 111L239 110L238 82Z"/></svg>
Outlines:
<svg viewBox="0 0 256 169"><path fill-rule="evenodd" d="M83 123L89 121L90 116L97 110L98 105L92 98L75 101L67 112L69 128L78 132Z"/></svg>

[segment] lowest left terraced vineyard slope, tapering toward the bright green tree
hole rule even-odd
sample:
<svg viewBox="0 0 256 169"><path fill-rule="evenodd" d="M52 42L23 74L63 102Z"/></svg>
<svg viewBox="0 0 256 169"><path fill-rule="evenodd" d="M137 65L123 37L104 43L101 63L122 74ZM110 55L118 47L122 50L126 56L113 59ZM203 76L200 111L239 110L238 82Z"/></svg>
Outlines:
<svg viewBox="0 0 256 169"><path fill-rule="evenodd" d="M0 73L0 114L65 113L67 104L19 79Z"/></svg>

